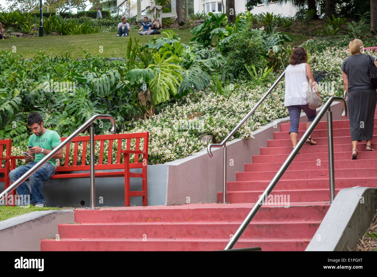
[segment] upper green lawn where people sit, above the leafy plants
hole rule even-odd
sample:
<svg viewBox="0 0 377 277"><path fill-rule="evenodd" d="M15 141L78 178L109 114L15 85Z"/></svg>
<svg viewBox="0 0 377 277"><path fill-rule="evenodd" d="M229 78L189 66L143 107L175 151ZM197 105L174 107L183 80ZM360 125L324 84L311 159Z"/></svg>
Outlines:
<svg viewBox="0 0 377 277"><path fill-rule="evenodd" d="M164 29L166 31L168 29ZM170 29L181 37L181 43L188 44L193 35L190 30ZM157 37L165 37L157 35ZM137 31L130 31L129 37L116 37L113 33L98 33L87 35L64 35L53 37L34 37L34 38L11 38L0 40L0 50L12 51L15 46L16 54L23 58L32 58L39 51L46 54L59 55L70 53L72 58L82 58L85 51L92 55L99 54L100 57L124 57L126 46L130 38L139 40L139 44L147 43L153 35L139 35ZM102 47L101 47L102 46ZM99 53L103 49L103 53Z"/></svg>

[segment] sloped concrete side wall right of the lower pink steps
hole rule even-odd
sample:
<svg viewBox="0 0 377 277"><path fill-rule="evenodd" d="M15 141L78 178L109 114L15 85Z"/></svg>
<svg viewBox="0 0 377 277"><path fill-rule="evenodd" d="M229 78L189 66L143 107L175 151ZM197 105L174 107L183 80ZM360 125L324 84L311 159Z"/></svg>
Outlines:
<svg viewBox="0 0 377 277"><path fill-rule="evenodd" d="M348 251L354 248L368 230L376 209L377 188L343 188L305 251Z"/></svg>

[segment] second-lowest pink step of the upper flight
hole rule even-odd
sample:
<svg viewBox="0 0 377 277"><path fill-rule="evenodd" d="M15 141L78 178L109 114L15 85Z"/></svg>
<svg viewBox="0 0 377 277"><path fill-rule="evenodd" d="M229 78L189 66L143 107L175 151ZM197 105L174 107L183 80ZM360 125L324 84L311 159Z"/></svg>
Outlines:
<svg viewBox="0 0 377 277"><path fill-rule="evenodd" d="M272 179L271 179L272 180ZM227 191L263 191L270 184L271 180L266 181L233 181L227 182ZM377 187L375 177L349 179L349 178L336 178L335 187L350 188L361 185L363 187ZM310 179L310 180L280 180L277 182L276 190L303 190L303 189L328 189L328 179Z"/></svg>

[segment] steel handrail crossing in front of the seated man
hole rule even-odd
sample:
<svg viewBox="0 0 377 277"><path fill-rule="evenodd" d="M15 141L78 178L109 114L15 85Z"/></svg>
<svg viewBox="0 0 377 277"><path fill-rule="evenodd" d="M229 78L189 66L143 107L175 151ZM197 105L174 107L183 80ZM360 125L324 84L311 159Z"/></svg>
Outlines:
<svg viewBox="0 0 377 277"><path fill-rule="evenodd" d="M65 139L61 144L59 144L56 148L54 148L48 155L46 155L43 159L41 159L37 164L35 164L32 168L26 171L20 178L17 179L11 186L9 186L6 190L4 190L0 194L0 201L3 200L8 193L11 193L15 188L17 188L23 181L29 178L31 174L38 170L45 162L52 158L60 149L66 146L73 138L75 138L78 134L83 132L87 127L90 126L90 208L94 209L95 205L95 196L94 196L94 127L93 122L97 119L110 119L112 122L112 127L110 133L115 133L115 120L111 115L93 115L92 118L88 119L83 125L81 125L72 135L70 135L67 139Z"/></svg>

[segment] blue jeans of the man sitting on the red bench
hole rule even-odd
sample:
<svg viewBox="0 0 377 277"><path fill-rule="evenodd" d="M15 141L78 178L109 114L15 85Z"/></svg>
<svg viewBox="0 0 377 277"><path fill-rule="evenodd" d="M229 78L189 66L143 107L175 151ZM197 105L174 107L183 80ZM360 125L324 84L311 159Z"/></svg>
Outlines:
<svg viewBox="0 0 377 277"><path fill-rule="evenodd" d="M21 165L16 169L12 170L9 173L9 179L12 183L17 181L23 174L26 173L30 168L36 165L37 162L29 162L29 164ZM29 176L30 187L31 191L29 190L28 186L25 182L22 182L17 188L18 195L30 195L30 201L36 204L44 204L44 198L42 193L42 183L41 181L47 181L51 178L52 175L55 174L55 167L52 164L46 162L37 171ZM26 205L27 203L21 203L21 205Z"/></svg>

